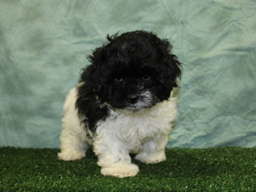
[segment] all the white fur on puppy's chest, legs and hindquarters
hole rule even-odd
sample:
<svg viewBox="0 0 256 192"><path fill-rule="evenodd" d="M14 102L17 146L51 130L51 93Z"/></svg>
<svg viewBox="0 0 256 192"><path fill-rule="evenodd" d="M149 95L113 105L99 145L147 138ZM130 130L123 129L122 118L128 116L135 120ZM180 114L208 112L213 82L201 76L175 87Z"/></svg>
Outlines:
<svg viewBox="0 0 256 192"><path fill-rule="evenodd" d="M130 111L109 108L110 116L97 123L96 132L89 139L87 129L81 124L75 108L77 88L70 90L65 104L60 136L61 160L78 160L85 157L87 143L93 144L98 156L97 164L103 175L115 177L135 176L137 165L131 163L129 153L136 153L135 159L144 163L158 163L166 160L165 147L169 124L176 116L175 98L157 103L150 109Z"/></svg>

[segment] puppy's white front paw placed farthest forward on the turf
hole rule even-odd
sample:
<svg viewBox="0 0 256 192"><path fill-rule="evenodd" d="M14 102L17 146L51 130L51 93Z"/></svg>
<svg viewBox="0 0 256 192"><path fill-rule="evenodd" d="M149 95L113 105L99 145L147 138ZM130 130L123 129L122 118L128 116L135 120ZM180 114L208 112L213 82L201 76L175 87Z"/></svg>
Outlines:
<svg viewBox="0 0 256 192"><path fill-rule="evenodd" d="M139 172L139 167L135 164L127 165L121 163L114 163L109 167L103 167L101 169L102 175L108 175L113 177L134 177Z"/></svg>

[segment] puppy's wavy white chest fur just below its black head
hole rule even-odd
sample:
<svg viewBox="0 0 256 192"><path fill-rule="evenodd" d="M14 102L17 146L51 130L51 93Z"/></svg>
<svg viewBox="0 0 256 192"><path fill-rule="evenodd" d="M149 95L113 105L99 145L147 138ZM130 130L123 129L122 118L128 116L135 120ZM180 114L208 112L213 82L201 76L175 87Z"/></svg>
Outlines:
<svg viewBox="0 0 256 192"><path fill-rule="evenodd" d="M110 143L119 140L128 151L138 151L143 143L157 135L167 135L176 116L175 98L144 111L110 109L110 116L98 122L96 138Z"/></svg>

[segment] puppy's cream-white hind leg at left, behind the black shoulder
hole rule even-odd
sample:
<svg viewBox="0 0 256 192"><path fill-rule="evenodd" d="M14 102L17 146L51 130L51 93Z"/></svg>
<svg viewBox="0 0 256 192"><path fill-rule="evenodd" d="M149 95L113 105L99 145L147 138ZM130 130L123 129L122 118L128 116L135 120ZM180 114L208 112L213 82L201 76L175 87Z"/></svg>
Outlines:
<svg viewBox="0 0 256 192"><path fill-rule="evenodd" d="M64 161L79 160L85 157L88 140L86 129L81 127L78 111L75 107L76 88L70 90L64 103L64 117L60 136L61 152L58 158Z"/></svg>

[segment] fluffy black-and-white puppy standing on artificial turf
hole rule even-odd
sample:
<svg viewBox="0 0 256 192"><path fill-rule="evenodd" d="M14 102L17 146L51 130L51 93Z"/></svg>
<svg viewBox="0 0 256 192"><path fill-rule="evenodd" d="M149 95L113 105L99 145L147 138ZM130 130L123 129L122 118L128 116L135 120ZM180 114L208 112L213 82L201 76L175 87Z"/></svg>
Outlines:
<svg viewBox="0 0 256 192"><path fill-rule="evenodd" d="M181 76L172 46L152 32L107 35L108 44L88 56L79 84L64 103L61 160L85 157L93 145L103 175L135 176L136 160L166 160L165 147L175 119L170 97Z"/></svg>

